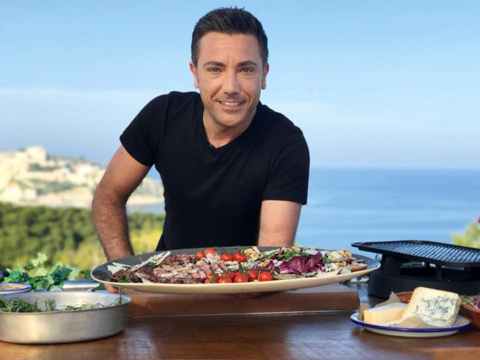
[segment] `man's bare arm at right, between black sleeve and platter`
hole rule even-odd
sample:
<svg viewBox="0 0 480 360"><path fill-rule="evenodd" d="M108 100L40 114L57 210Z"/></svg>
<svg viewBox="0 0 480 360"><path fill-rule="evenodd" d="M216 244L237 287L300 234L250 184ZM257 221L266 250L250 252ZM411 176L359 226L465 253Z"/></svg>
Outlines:
<svg viewBox="0 0 480 360"><path fill-rule="evenodd" d="M302 204L299 202L263 200L258 246L291 246L301 208Z"/></svg>

